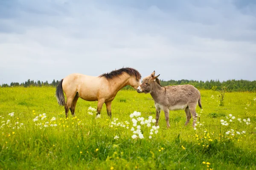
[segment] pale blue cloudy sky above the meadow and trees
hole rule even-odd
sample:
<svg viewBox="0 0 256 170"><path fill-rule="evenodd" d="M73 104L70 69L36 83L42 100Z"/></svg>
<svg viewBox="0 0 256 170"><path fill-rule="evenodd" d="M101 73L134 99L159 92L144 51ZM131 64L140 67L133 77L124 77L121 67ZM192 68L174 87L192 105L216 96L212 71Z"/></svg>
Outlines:
<svg viewBox="0 0 256 170"><path fill-rule="evenodd" d="M98 76L256 80L255 0L0 0L0 84Z"/></svg>

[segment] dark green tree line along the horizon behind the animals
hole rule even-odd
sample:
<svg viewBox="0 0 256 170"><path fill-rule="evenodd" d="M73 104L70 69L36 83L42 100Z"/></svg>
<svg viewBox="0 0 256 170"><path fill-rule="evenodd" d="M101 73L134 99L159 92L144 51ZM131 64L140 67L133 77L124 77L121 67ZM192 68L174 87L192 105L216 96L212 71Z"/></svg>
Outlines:
<svg viewBox="0 0 256 170"><path fill-rule="evenodd" d="M23 83L18 83L18 82L12 82L10 85L8 84L2 84L0 85L1 87L42 87L42 86L52 86L56 87L58 85L59 81L53 81L49 83L48 81L43 82L43 81L34 81L28 79L26 82ZM161 80L161 85L166 86L166 85L194 85L195 88L198 89L214 89L214 90L221 90L221 87L226 86L227 91L256 91L256 81L248 81L248 80L227 80L220 82L219 80L210 80L210 81L195 81L195 80L187 80L187 79L182 79L182 80L169 80L169 81L164 81ZM131 90L133 89L131 86L125 86L123 89L126 90Z"/></svg>

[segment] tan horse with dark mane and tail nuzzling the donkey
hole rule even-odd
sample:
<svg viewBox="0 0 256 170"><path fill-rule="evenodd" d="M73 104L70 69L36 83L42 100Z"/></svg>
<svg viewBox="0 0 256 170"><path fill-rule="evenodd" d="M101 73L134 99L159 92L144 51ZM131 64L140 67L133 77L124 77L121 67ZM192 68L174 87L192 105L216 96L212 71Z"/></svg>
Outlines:
<svg viewBox="0 0 256 170"><path fill-rule="evenodd" d="M69 110L73 116L75 115L79 97L87 101L98 100L97 114L100 114L102 105L105 103L108 116L111 117L111 102L117 92L126 85L137 89L141 84L140 79L140 73L133 68L121 68L98 77L70 74L59 82L56 98L59 105L65 106L66 117ZM63 91L66 94L67 103L65 103Z"/></svg>

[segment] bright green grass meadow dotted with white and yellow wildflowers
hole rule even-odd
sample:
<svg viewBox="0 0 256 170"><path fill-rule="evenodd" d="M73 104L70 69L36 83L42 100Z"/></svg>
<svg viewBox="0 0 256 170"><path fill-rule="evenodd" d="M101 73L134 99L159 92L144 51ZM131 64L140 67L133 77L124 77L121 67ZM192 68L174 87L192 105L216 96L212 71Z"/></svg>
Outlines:
<svg viewBox="0 0 256 170"><path fill-rule="evenodd" d="M79 99L76 117L65 119L55 88L0 88L0 169L256 169L256 93L226 93L219 107L218 91L200 92L204 110L197 107L196 130L192 119L184 127L184 111L170 111L166 129L161 111L158 133L150 134L154 123L138 121L144 139L133 139L131 113L155 119L150 94L119 91L112 120L105 105L96 119L88 108L97 102Z"/></svg>

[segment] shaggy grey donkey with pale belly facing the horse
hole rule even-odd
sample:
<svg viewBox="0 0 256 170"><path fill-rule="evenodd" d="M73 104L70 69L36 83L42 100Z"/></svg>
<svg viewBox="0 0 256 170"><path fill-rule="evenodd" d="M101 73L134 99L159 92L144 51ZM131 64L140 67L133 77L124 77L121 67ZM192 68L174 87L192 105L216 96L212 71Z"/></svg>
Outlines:
<svg viewBox="0 0 256 170"><path fill-rule="evenodd" d="M166 118L167 128L169 124L169 110L185 110L186 123L189 123L191 114L193 116L193 127L197 122L197 114L195 112L196 105L198 103L201 106L201 95L198 89L192 85L172 85L161 86L158 76L154 76L155 71L148 77L143 78L142 84L137 88L138 93L150 93L154 99L155 107L157 110L156 126L160 117L160 111L163 110Z"/></svg>

